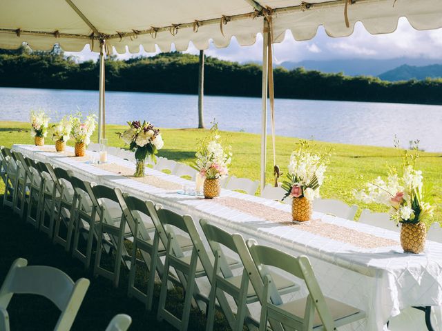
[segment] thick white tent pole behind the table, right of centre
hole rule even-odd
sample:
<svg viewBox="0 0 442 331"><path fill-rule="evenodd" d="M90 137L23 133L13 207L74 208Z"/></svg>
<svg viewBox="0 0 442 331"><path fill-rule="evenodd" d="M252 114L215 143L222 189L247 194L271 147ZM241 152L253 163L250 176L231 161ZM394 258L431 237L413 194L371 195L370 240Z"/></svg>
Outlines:
<svg viewBox="0 0 442 331"><path fill-rule="evenodd" d="M267 159L267 83L269 79L269 22L267 19L264 19L262 39L261 190L265 188Z"/></svg>

